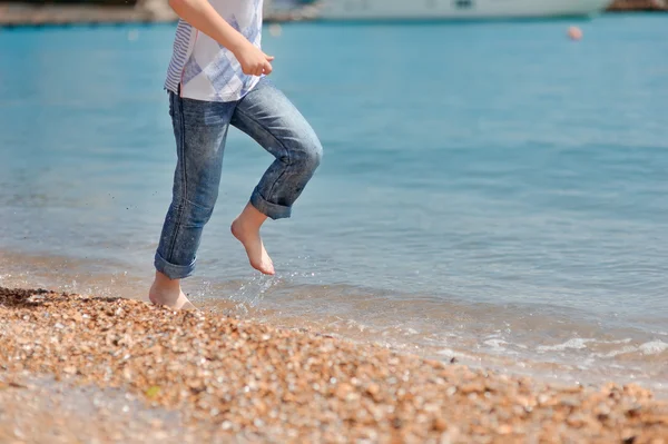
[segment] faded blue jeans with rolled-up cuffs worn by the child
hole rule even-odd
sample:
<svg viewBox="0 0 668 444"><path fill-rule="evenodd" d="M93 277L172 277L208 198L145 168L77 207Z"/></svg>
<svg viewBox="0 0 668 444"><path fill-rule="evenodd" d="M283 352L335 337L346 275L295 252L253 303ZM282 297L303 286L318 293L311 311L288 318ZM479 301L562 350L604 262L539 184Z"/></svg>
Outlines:
<svg viewBox="0 0 668 444"><path fill-rule="evenodd" d="M169 92L169 115L178 161L155 266L180 279L195 269L202 231L218 197L229 125L276 158L250 196L250 204L272 219L291 216L323 149L308 122L266 78L238 101L200 101Z"/></svg>

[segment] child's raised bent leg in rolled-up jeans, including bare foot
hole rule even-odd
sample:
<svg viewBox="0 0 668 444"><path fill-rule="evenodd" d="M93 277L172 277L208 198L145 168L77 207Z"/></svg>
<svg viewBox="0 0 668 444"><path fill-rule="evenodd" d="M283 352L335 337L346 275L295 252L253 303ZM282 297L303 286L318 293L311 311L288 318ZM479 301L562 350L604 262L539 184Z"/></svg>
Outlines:
<svg viewBox="0 0 668 444"><path fill-rule="evenodd" d="M306 119L266 78L238 102L232 125L276 158L232 225L232 233L244 244L250 265L274 274L259 227L267 217L291 216L293 204L320 165L323 148Z"/></svg>

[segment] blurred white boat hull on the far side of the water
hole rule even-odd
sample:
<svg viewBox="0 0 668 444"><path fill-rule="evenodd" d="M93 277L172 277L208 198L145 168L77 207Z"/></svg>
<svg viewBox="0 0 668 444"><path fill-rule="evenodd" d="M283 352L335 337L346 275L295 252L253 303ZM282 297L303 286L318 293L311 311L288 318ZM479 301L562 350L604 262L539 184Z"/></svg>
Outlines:
<svg viewBox="0 0 668 444"><path fill-rule="evenodd" d="M436 20L587 17L612 0L321 0L322 20Z"/></svg>

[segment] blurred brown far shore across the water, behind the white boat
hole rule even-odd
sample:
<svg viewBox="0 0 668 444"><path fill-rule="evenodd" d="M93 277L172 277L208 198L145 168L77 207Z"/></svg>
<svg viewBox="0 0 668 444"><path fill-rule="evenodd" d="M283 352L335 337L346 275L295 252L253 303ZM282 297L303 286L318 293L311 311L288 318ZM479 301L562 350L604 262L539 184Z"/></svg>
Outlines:
<svg viewBox="0 0 668 444"><path fill-rule="evenodd" d="M668 2L662 0L617 0L606 10L619 12L667 12ZM176 23L177 16L163 1L138 2L137 6L82 6L0 2L0 28L43 27L43 26L96 26L96 24L149 24ZM317 21L317 12L312 8L276 11L267 13L265 22L287 23Z"/></svg>

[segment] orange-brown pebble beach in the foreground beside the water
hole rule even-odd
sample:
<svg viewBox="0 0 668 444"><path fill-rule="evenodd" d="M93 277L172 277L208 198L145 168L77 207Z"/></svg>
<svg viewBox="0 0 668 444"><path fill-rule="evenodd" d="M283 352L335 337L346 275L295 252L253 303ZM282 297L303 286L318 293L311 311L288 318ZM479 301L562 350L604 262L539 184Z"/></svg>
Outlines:
<svg viewBox="0 0 668 444"><path fill-rule="evenodd" d="M636 386L554 386L308 330L0 288L0 442L668 443Z"/></svg>

